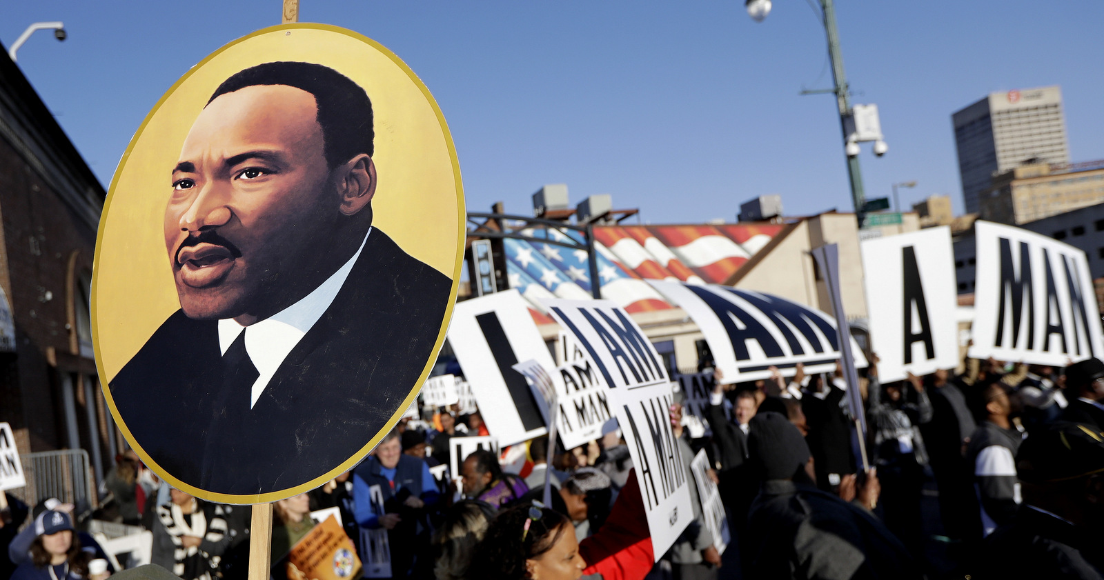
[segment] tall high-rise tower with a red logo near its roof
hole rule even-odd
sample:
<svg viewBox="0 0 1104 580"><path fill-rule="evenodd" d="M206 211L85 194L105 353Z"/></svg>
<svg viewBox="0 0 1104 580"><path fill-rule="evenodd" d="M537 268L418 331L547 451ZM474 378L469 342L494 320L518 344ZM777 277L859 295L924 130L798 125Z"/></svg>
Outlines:
<svg viewBox="0 0 1104 580"><path fill-rule="evenodd" d="M1070 162L1057 86L990 93L955 112L952 121L966 213L980 210L979 196L992 185L994 173L1027 160Z"/></svg>

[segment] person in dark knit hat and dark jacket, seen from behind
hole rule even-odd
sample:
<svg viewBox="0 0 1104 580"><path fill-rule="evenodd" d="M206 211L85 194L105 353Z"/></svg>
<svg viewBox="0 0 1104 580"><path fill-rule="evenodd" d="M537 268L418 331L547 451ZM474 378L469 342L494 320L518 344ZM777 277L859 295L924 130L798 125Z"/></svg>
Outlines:
<svg viewBox="0 0 1104 580"><path fill-rule="evenodd" d="M751 420L750 460L761 481L747 518L747 578L920 579L919 566L869 511L817 488L809 448L775 412ZM868 485L877 481L873 473Z"/></svg>

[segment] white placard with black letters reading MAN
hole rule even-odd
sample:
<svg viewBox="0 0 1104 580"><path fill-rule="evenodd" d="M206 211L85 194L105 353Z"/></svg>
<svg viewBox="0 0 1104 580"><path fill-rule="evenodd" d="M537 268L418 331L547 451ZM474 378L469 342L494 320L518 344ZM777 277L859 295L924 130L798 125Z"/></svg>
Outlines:
<svg viewBox="0 0 1104 580"><path fill-rule="evenodd" d="M1018 227L975 223L977 281L969 356L1065 366L1104 357L1085 253Z"/></svg>

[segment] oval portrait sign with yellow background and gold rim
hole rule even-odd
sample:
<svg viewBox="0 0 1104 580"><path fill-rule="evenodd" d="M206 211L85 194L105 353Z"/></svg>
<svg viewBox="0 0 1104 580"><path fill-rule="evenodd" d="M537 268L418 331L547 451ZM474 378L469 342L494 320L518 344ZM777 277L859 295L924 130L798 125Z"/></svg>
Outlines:
<svg viewBox="0 0 1104 580"><path fill-rule="evenodd" d="M436 359L464 223L445 118L397 56L322 24L223 46L146 117L99 224L96 363L127 440L222 503L351 469Z"/></svg>

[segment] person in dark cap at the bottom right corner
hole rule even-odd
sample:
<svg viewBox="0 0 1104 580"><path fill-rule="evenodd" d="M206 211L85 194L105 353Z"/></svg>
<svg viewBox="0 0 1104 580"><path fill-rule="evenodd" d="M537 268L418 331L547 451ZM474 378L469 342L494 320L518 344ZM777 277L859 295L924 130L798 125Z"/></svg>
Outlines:
<svg viewBox="0 0 1104 580"><path fill-rule="evenodd" d="M1023 502L985 540L974 578L1104 578L1104 432L1059 421L1016 454Z"/></svg>

